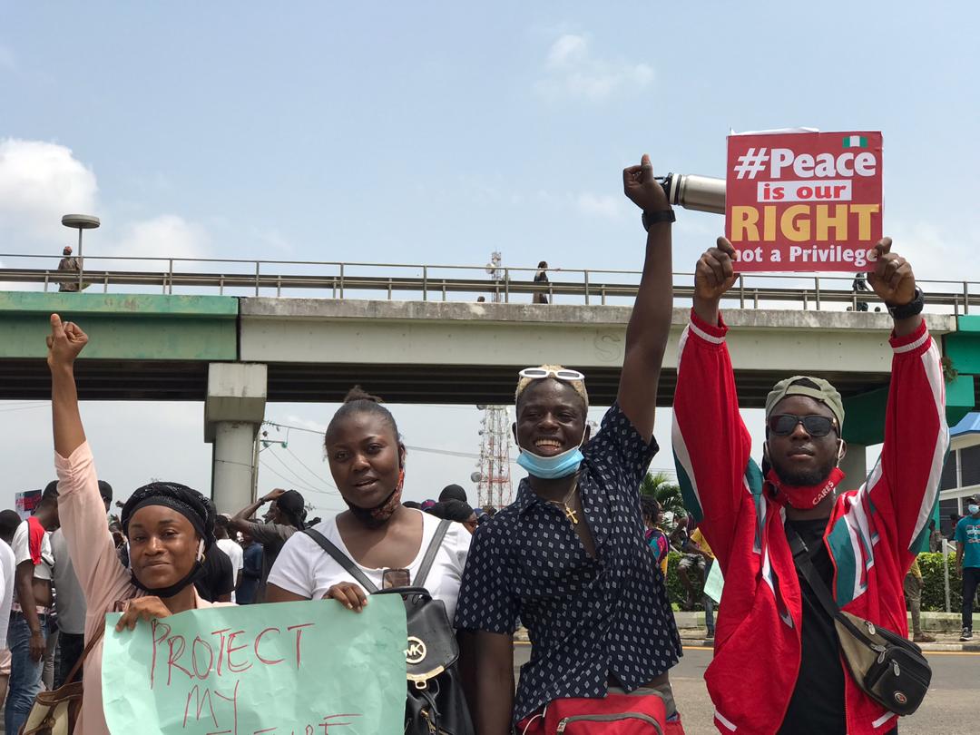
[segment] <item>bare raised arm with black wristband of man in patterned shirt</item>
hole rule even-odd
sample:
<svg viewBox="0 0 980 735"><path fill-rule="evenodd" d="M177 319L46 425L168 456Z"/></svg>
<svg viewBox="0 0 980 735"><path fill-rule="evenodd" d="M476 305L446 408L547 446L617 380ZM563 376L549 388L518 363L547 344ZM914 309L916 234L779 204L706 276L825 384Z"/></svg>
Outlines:
<svg viewBox="0 0 980 735"><path fill-rule="evenodd" d="M670 332L673 283L670 258L670 205L660 182L654 178L650 156L639 166L622 172L626 196L647 216L647 254L633 313L626 327L626 354L616 396L619 407L640 435L649 442L654 435L657 388Z"/></svg>

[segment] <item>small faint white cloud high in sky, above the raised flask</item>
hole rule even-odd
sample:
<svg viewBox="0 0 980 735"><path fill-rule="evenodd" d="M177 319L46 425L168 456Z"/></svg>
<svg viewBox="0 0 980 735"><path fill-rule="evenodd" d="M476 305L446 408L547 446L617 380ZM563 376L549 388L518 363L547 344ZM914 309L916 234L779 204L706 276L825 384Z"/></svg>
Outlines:
<svg viewBox="0 0 980 735"><path fill-rule="evenodd" d="M549 98L598 102L621 89L642 89L653 79L654 70L649 65L599 58L592 52L588 36L565 33L552 43L537 89Z"/></svg>

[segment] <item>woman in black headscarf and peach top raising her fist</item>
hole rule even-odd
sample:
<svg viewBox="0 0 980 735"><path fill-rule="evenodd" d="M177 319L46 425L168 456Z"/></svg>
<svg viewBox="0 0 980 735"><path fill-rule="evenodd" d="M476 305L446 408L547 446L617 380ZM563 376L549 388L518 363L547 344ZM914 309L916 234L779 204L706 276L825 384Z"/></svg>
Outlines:
<svg viewBox="0 0 980 735"><path fill-rule="evenodd" d="M117 630L132 630L140 618L167 617L211 607L194 589L204 555L215 543L214 507L201 493L173 482L136 490L123 506L123 533L129 542L127 569L116 554L74 383L74 360L88 337L72 322L51 316L48 368L58 511L69 556L88 609L85 639L101 634L105 614L123 604ZM85 695L75 732L109 735L102 711L102 641L85 659Z"/></svg>

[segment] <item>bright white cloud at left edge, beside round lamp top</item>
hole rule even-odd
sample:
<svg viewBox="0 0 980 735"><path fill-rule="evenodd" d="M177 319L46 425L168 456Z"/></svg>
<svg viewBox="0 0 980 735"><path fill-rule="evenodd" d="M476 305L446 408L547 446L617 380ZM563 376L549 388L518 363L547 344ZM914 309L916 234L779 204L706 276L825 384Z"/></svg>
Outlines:
<svg viewBox="0 0 980 735"><path fill-rule="evenodd" d="M70 148L40 140L0 140L0 232L5 247L25 251L43 246L57 255L71 239L62 215L91 214L97 193L95 173L74 158Z"/></svg>

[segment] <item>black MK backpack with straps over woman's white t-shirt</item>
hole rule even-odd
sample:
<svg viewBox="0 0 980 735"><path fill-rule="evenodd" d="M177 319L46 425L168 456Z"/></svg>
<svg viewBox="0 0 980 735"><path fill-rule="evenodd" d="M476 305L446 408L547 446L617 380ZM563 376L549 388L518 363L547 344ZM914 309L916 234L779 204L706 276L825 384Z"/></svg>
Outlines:
<svg viewBox="0 0 980 735"><path fill-rule="evenodd" d="M375 587L358 565L323 534L313 528L303 531L343 566L368 594L402 596L409 632L405 651L408 678L405 735L475 735L456 666L460 658L456 633L442 600L433 600L425 589L425 579L451 522L443 520L436 528L414 584L386 590Z"/></svg>

